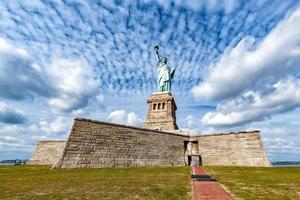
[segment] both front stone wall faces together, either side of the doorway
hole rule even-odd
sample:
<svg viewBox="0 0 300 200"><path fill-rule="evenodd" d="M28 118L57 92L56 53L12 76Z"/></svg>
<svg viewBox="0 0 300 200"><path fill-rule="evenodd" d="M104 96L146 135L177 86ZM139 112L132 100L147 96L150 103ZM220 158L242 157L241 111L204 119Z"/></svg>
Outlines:
<svg viewBox="0 0 300 200"><path fill-rule="evenodd" d="M61 155L54 167L184 166L189 156L202 165L269 166L259 131L190 136L81 118Z"/></svg>

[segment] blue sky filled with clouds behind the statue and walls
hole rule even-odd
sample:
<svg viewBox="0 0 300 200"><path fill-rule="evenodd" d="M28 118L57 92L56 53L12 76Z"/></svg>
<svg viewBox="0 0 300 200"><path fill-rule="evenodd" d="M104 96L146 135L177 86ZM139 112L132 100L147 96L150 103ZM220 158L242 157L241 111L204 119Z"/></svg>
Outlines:
<svg viewBox="0 0 300 200"><path fill-rule="evenodd" d="M258 129L270 160L300 160L296 0L0 1L0 160L66 138L74 117L141 126L155 44L181 129Z"/></svg>

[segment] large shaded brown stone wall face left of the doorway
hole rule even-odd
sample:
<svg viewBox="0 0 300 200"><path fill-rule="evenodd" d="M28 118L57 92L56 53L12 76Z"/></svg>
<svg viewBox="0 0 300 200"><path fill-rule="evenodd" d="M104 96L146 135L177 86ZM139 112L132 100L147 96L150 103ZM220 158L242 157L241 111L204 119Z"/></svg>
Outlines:
<svg viewBox="0 0 300 200"><path fill-rule="evenodd" d="M58 168L184 166L187 135L74 120Z"/></svg>

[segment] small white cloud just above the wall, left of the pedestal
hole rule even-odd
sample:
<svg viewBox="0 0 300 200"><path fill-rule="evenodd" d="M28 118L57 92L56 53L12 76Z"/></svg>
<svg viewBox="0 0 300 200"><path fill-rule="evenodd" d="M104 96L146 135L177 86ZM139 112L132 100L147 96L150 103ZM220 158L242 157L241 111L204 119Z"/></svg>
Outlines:
<svg viewBox="0 0 300 200"><path fill-rule="evenodd" d="M115 110L109 114L107 120L120 123L120 124L128 124L128 125L140 125L142 120L138 118L138 116L134 112L127 113L124 109Z"/></svg>

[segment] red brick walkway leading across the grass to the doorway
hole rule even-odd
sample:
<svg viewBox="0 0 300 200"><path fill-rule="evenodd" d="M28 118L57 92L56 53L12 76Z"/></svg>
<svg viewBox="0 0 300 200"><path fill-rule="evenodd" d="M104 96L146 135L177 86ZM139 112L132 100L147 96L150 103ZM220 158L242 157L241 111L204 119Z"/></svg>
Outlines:
<svg viewBox="0 0 300 200"><path fill-rule="evenodd" d="M194 166L192 174L195 177L193 178L195 200L233 200L231 195L217 181L212 180L201 167Z"/></svg>

